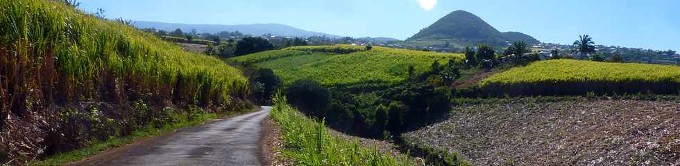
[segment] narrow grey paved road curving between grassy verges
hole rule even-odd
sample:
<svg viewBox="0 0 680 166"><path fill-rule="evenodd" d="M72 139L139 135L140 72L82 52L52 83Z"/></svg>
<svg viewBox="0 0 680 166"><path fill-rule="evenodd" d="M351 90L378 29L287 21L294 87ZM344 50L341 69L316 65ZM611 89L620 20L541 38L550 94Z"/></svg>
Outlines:
<svg viewBox="0 0 680 166"><path fill-rule="evenodd" d="M262 165L262 120L271 107L179 129L74 165Z"/></svg>

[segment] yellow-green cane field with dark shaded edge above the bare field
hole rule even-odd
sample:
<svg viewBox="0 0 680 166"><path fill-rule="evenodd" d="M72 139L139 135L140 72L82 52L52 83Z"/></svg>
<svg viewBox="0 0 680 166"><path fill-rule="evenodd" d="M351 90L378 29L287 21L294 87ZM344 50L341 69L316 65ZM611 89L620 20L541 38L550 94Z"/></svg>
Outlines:
<svg viewBox="0 0 680 166"><path fill-rule="evenodd" d="M511 68L480 84L492 95L677 94L680 67L559 59Z"/></svg>

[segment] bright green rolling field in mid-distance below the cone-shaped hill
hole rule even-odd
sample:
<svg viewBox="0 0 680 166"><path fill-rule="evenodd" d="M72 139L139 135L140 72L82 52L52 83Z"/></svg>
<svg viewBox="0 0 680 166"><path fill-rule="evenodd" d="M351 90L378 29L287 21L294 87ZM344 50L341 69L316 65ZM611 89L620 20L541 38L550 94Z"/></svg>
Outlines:
<svg viewBox="0 0 680 166"><path fill-rule="evenodd" d="M298 46L232 58L236 62L271 68L286 84L312 78L327 86L385 86L404 80L409 66L425 71L435 60L462 61L464 55L365 46Z"/></svg>

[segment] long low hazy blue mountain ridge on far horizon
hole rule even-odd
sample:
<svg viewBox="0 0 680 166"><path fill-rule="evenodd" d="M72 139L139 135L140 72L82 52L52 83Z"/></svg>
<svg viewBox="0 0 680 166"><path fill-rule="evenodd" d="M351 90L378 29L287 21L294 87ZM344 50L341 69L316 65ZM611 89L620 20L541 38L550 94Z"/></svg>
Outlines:
<svg viewBox="0 0 680 166"><path fill-rule="evenodd" d="M312 37L312 36L326 36L331 38L339 38L338 35L330 35L327 33L317 33L313 31L295 28L283 24L243 24L243 25L216 25L216 24L176 24L164 23L156 21L136 21L137 28L156 28L158 30L172 31L180 28L183 32L188 33L196 29L198 33L219 33L222 31L239 31L245 35L260 36L264 34L271 34L276 36L286 37Z"/></svg>

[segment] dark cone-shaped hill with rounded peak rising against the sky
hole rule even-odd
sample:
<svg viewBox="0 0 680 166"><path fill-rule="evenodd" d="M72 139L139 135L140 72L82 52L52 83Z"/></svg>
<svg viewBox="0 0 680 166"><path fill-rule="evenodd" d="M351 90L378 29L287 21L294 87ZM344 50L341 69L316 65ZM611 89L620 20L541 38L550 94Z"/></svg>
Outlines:
<svg viewBox="0 0 680 166"><path fill-rule="evenodd" d="M528 44L538 44L538 40L522 33L501 33L482 18L470 12L457 10L442 17L434 24L420 30L407 42L449 41L458 45L490 44L492 46L507 46L507 42L525 41Z"/></svg>

